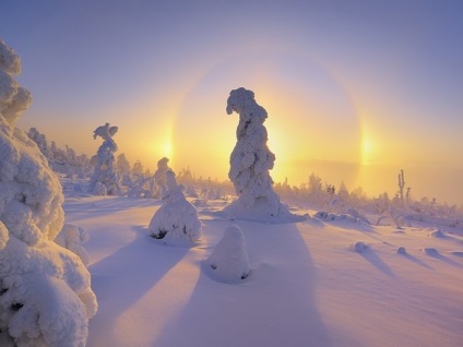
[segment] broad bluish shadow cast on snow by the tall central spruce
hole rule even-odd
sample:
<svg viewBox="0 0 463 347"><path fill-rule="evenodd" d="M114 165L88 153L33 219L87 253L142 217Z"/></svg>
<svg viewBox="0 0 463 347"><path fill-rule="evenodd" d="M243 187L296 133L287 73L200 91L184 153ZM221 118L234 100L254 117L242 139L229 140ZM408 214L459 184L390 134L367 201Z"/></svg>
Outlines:
<svg viewBox="0 0 463 347"><path fill-rule="evenodd" d="M250 275L229 285L202 268L189 302L156 345L330 346L316 304L314 265L296 225L234 224L245 234Z"/></svg>

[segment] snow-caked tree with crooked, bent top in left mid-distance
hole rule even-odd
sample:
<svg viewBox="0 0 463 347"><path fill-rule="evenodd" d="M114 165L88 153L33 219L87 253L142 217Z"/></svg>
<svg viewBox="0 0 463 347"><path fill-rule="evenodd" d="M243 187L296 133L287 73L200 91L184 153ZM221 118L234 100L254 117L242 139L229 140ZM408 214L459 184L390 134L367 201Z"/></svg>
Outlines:
<svg viewBox="0 0 463 347"><path fill-rule="evenodd" d="M96 195L120 195L122 193L115 163L117 144L112 140L117 131L117 127L109 127L109 123L106 123L93 132L93 139L99 136L104 140L96 153L95 171L88 187L88 192Z"/></svg>

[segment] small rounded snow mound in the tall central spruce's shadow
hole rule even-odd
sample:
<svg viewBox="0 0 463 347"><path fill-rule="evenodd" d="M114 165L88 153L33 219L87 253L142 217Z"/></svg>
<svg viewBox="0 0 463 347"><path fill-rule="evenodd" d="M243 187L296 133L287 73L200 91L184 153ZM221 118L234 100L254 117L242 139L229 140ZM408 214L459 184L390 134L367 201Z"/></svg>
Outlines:
<svg viewBox="0 0 463 347"><path fill-rule="evenodd" d="M205 261L211 277L215 280L234 284L248 277L249 259L242 230L230 226Z"/></svg>

